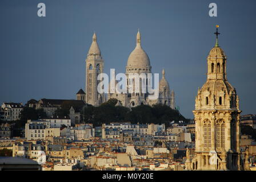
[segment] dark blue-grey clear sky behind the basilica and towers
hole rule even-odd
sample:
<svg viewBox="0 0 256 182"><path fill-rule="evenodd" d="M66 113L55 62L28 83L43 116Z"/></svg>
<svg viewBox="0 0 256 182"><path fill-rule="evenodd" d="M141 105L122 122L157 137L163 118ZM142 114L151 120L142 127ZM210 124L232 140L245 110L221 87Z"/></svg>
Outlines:
<svg viewBox="0 0 256 182"><path fill-rule="evenodd" d="M38 17L38 3L46 17ZM209 4L217 4L217 17ZM186 118L206 81L206 57L215 44L227 55L227 79L242 114L255 110L256 1L235 0L1 0L0 102L75 99L85 90L85 59L93 32L110 68L124 73L139 28L153 73L161 73Z"/></svg>

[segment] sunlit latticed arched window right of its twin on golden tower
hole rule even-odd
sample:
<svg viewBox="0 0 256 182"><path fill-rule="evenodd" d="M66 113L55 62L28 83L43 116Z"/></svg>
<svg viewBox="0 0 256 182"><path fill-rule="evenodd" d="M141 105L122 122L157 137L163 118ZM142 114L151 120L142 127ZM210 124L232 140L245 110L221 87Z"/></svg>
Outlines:
<svg viewBox="0 0 256 182"><path fill-rule="evenodd" d="M217 148L225 148L225 122L221 119L216 122Z"/></svg>

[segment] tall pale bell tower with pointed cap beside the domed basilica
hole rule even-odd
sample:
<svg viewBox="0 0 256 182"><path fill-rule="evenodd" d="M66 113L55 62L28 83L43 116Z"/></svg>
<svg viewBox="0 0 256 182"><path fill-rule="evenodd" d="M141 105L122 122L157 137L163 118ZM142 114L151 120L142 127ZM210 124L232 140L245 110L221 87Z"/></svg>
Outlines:
<svg viewBox="0 0 256 182"><path fill-rule="evenodd" d="M94 32L93 42L87 54L86 59L86 103L94 106L100 105L105 101L103 94L99 94L97 91L97 76L103 72L104 61L101 56L101 50L97 43L97 36Z"/></svg>

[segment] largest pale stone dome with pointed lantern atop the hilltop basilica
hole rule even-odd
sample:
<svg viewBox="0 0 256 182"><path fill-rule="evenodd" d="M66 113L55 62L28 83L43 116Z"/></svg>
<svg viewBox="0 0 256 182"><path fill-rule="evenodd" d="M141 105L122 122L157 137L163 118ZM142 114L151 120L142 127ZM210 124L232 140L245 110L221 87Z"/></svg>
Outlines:
<svg viewBox="0 0 256 182"><path fill-rule="evenodd" d="M141 34L139 33L139 31L137 34L137 45L128 57L127 67L130 67L130 68L150 67L149 56L147 56L147 53L141 47Z"/></svg>

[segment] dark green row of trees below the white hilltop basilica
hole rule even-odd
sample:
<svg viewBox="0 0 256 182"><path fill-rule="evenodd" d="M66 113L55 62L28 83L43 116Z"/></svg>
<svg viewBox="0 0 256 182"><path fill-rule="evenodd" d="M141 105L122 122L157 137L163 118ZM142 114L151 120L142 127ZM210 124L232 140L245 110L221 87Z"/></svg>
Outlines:
<svg viewBox="0 0 256 182"><path fill-rule="evenodd" d="M82 121L91 122L94 126L110 122L131 123L169 123L170 121L187 121L179 111L166 105L140 105L131 109L115 106L118 100L110 99L98 107L87 105L81 110Z"/></svg>

